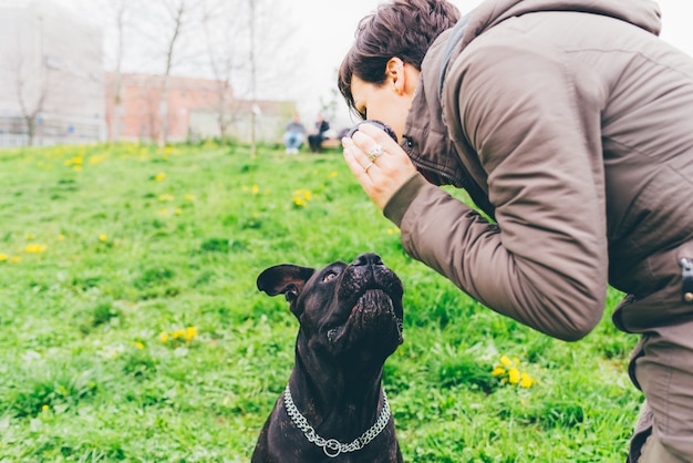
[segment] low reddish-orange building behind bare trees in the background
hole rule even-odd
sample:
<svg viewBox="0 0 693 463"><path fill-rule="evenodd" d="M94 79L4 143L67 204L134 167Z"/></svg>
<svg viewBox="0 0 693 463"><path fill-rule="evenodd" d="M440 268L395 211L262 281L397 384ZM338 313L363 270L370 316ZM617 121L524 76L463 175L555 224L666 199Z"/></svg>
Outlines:
<svg viewBox="0 0 693 463"><path fill-rule="evenodd" d="M117 80L117 81L116 81ZM166 104L162 94L166 85ZM114 97L120 88L120 104ZM180 142L211 137L251 138L251 115L256 141L276 143L296 111L294 102L236 100L228 84L208 79L170 75L106 73L106 125L108 140L161 140L161 111L165 107L166 140Z"/></svg>

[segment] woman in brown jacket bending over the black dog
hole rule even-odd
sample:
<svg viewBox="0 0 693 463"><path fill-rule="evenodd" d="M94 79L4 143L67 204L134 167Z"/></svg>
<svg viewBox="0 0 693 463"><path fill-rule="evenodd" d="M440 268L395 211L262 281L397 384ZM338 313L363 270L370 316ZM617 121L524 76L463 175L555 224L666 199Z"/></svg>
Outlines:
<svg viewBox="0 0 693 463"><path fill-rule="evenodd" d="M613 321L641 335L629 459L648 463L693 461L693 60L660 25L649 0L485 0L462 19L395 0L339 72L399 138L362 124L344 158L410 256L568 341L609 284L629 294Z"/></svg>

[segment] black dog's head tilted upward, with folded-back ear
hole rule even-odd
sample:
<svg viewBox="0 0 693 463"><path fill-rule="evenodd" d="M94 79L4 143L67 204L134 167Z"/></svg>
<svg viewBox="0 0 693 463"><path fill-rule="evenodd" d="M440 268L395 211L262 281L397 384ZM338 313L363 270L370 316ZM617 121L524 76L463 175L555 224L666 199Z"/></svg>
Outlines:
<svg viewBox="0 0 693 463"><path fill-rule="evenodd" d="M282 264L258 277L258 289L286 295L311 350L331 358L384 360L402 343L402 281L377 254L322 269Z"/></svg>

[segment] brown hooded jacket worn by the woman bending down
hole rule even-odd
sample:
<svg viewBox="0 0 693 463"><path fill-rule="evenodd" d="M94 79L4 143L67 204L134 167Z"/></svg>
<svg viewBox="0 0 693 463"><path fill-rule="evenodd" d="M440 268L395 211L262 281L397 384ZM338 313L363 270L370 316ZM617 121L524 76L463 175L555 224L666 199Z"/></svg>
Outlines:
<svg viewBox="0 0 693 463"><path fill-rule="evenodd" d="M416 175L384 210L406 253L565 340L608 284L623 330L693 318L693 59L659 30L649 0L487 0L443 33L402 146L497 224Z"/></svg>

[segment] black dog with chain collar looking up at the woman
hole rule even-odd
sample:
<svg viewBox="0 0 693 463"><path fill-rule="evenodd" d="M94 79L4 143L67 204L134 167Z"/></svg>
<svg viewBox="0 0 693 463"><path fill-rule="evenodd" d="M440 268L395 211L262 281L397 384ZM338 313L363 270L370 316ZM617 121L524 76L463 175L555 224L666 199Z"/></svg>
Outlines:
<svg viewBox="0 0 693 463"><path fill-rule="evenodd" d="M289 384L252 454L261 462L402 462L385 359L402 343L402 281L376 254L322 269L262 271L258 289L283 294L300 327Z"/></svg>

